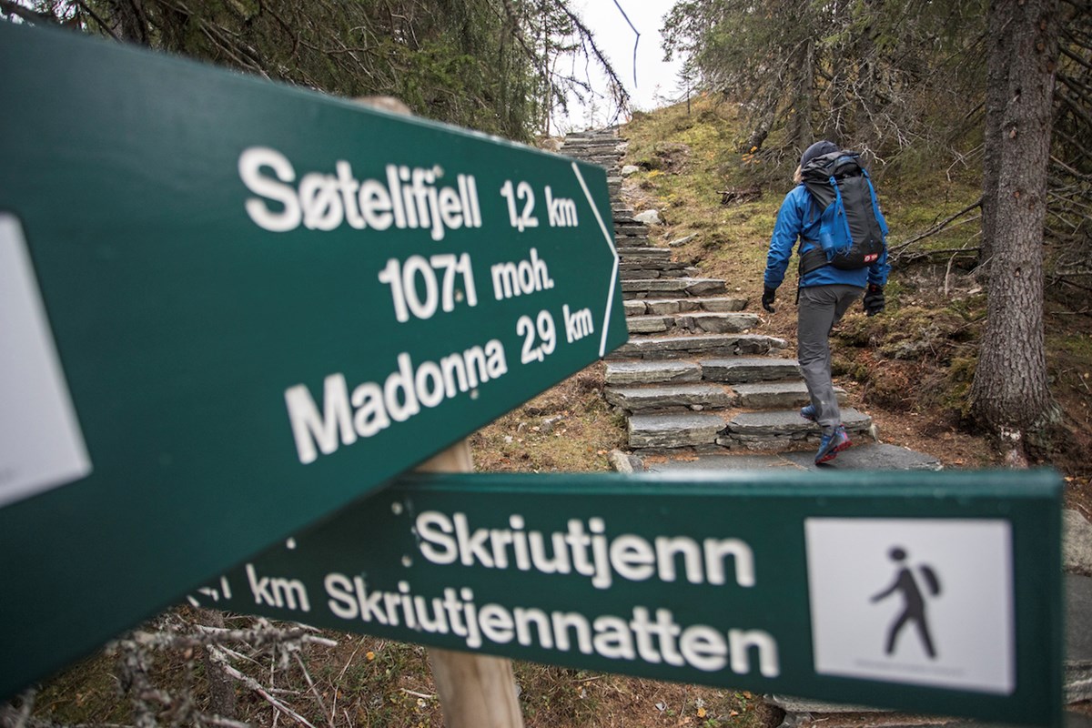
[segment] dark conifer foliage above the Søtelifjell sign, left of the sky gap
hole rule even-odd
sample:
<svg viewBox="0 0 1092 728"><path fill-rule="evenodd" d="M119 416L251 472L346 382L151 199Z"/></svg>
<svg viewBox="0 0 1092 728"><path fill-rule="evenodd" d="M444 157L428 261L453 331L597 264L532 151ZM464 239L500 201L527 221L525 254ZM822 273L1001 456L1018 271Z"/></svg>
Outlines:
<svg viewBox="0 0 1092 728"><path fill-rule="evenodd" d="M573 95L628 97L566 0L0 0L0 16L323 91L394 96L419 116L527 141Z"/></svg>

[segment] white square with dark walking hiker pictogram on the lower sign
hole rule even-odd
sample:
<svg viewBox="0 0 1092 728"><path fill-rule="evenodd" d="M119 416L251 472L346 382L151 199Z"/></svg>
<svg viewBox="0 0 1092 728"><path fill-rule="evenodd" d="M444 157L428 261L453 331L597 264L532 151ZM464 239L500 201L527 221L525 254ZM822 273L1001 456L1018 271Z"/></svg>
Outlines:
<svg viewBox="0 0 1092 728"><path fill-rule="evenodd" d="M816 672L1013 691L1009 523L808 518L805 530Z"/></svg>

